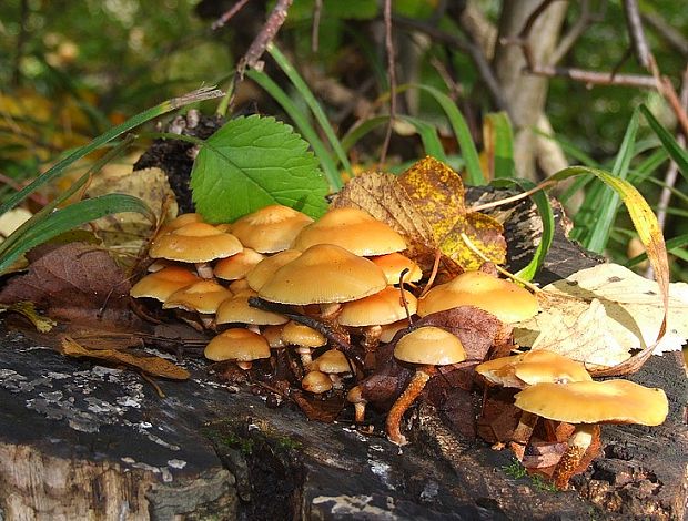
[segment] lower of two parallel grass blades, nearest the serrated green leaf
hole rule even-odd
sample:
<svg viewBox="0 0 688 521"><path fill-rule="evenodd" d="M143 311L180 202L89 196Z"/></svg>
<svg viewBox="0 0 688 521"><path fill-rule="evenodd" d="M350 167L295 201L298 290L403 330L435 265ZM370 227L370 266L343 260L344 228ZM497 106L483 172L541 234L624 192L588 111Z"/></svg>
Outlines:
<svg viewBox="0 0 688 521"><path fill-rule="evenodd" d="M313 125L303 115L303 112L296 106L291 98L277 85L267 74L259 72L254 69L246 71L246 75L256 82L262 89L264 89L284 109L284 112L292 119L303 137L308 142L313 152L320 160L320 164L323 167L323 172L327 177L327 182L334 192L337 192L342 187L342 176L337 166L330 155L330 151L325 147L325 144L321 141L313 129Z"/></svg>

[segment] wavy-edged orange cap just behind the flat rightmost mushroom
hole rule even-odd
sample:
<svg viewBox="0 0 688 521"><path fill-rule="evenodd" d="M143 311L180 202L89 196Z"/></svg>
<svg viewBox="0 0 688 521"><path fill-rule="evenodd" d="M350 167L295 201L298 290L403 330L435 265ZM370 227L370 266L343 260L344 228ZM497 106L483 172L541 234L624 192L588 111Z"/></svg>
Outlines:
<svg viewBox="0 0 688 521"><path fill-rule="evenodd" d="M584 364L546 349L495 358L478 365L475 371L493 385L519 389L542 382L593 380Z"/></svg>

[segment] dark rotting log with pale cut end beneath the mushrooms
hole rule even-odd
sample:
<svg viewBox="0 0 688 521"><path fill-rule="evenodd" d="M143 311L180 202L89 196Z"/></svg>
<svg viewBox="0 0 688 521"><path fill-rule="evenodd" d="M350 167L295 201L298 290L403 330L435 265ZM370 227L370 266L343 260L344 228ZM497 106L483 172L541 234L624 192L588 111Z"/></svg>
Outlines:
<svg viewBox="0 0 688 521"><path fill-rule="evenodd" d="M509 244L513 265L537 241L532 217L529 208L516 208L507 222L507 236L522 239ZM563 239L563 232L542 282L598 262ZM68 359L1 323L0 519L686 514L688 392L674 354L652 357L633 377L666 389L667 422L605 427L604 457L574 479L579 492L557 493L510 477L507 451L462 438L428 406L409 415L405 430L413 442L399 449L346 422L308 421L290 401L224 385L202 362L184 365L192 378L160 381L160 398L133 371Z"/></svg>

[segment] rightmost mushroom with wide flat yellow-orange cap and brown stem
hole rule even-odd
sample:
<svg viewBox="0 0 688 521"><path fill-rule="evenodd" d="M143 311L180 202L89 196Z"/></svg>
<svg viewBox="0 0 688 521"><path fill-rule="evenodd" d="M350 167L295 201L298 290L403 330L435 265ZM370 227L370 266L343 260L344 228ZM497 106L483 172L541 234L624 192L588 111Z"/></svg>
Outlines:
<svg viewBox="0 0 688 521"><path fill-rule="evenodd" d="M576 426L553 480L564 489L593 441L597 423L658 426L669 413L664 390L628 380L536 384L515 396L516 407L543 418Z"/></svg>

